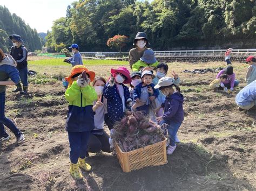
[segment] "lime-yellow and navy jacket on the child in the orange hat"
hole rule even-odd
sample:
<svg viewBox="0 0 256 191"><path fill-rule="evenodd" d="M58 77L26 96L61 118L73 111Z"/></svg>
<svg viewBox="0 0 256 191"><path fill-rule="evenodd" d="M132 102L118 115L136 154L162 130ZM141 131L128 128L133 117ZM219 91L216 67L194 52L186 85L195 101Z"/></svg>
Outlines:
<svg viewBox="0 0 256 191"><path fill-rule="evenodd" d="M93 101L97 100L95 89L91 86L80 88L77 82L66 90L65 98L69 102L69 112L66 119L68 132L91 131L94 126Z"/></svg>

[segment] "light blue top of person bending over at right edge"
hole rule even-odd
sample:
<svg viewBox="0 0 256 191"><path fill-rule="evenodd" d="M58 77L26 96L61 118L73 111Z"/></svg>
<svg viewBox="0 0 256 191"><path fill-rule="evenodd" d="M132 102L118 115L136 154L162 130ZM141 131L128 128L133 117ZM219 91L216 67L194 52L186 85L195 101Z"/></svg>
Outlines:
<svg viewBox="0 0 256 191"><path fill-rule="evenodd" d="M235 103L238 105L247 106L252 102L256 103L256 80L242 88L235 96Z"/></svg>

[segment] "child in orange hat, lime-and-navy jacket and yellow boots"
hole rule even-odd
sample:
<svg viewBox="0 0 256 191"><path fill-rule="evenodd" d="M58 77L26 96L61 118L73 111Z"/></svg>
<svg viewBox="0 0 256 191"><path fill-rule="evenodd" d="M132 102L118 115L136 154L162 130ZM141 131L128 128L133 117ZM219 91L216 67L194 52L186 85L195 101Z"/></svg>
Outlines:
<svg viewBox="0 0 256 191"><path fill-rule="evenodd" d="M86 79L81 75L84 71ZM65 78L69 82L65 98L69 102L66 131L70 144L70 174L75 179L83 178L78 167L91 171L91 166L85 163L85 155L90 132L95 128L92 103L97 100L97 94L90 86L94 78L95 73L83 65L73 67L71 75Z"/></svg>

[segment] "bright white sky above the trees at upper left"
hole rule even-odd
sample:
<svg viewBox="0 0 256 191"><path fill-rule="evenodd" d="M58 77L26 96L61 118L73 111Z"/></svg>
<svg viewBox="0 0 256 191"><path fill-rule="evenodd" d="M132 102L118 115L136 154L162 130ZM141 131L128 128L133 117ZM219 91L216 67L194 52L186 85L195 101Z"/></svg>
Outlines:
<svg viewBox="0 0 256 191"><path fill-rule="evenodd" d="M37 32L51 30L53 20L66 16L66 8L76 0L0 0Z"/></svg>

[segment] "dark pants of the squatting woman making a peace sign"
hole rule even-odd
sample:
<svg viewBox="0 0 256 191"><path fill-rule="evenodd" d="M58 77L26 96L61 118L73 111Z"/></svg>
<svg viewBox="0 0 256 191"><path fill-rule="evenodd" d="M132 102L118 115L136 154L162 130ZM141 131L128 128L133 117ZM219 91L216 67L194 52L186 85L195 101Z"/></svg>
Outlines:
<svg viewBox="0 0 256 191"><path fill-rule="evenodd" d="M87 144L87 151L96 153L104 151L110 153L109 135L103 130L103 135L95 135L91 133L89 142Z"/></svg>

